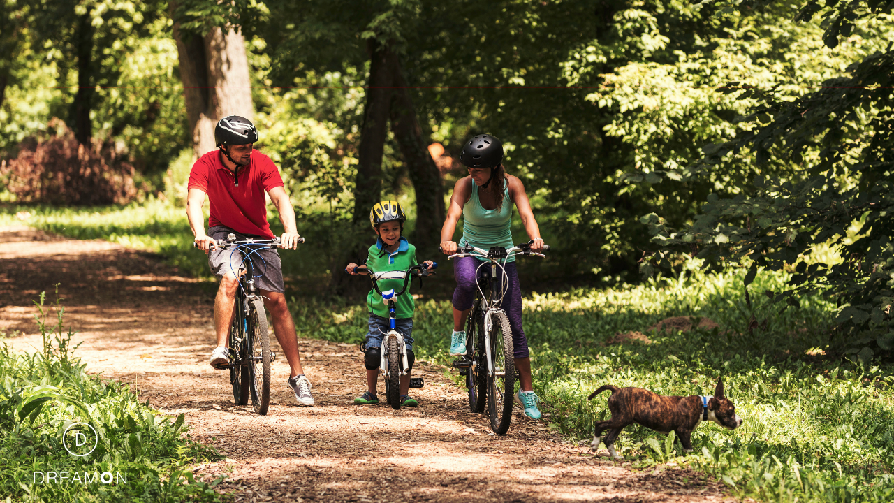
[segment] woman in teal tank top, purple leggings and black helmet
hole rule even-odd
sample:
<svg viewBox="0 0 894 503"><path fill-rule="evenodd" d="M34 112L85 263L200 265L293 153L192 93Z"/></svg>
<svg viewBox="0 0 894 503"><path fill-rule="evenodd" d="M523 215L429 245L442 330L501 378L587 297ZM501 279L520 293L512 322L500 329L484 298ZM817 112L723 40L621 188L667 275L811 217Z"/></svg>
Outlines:
<svg viewBox="0 0 894 503"><path fill-rule="evenodd" d="M488 250L493 246L510 248L512 242L512 206L519 210L519 217L525 225L528 237L533 240L531 250L543 249L544 240L540 228L527 200L525 185L518 177L507 175L502 165L502 143L491 135L478 135L463 147L460 161L468 166L468 176L461 178L453 187L450 209L441 229L443 252L456 253L457 243L453 241L456 224L463 220L460 245L472 245ZM466 332L463 326L468 311L475 298L476 274L481 262L473 257L453 260L456 290L453 292L453 333L451 335L452 355L466 354ZM523 405L525 413L532 419L540 418L537 405L539 399L534 393L531 381L531 358L527 350L525 330L521 326L521 288L514 259L506 264L508 289L503 297L502 309L506 311L512 329L515 366L519 371L521 390L516 402Z"/></svg>

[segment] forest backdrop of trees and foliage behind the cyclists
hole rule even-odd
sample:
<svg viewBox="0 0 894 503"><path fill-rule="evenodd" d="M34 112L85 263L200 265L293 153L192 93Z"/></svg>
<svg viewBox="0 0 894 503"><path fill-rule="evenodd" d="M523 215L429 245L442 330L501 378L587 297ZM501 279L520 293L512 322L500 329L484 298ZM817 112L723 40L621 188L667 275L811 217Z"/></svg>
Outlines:
<svg viewBox="0 0 894 503"><path fill-rule="evenodd" d="M461 145L490 132L552 245L524 268L532 285L635 284L692 255L750 268L745 287L759 268L797 271L767 294L822 291L856 345L894 349L885 2L3 7L7 205L160 201L142 245L207 274L170 209L215 121L246 115L308 237L290 276L350 296L339 273L371 239L373 202L406 203L434 254Z"/></svg>

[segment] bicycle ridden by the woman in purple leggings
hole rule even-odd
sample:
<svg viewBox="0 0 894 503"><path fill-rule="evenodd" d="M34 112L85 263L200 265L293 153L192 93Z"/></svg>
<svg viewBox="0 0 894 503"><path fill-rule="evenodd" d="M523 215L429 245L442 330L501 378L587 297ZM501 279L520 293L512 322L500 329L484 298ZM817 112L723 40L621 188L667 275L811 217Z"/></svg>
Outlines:
<svg viewBox="0 0 894 503"><path fill-rule="evenodd" d="M453 366L460 369L460 375L466 376L469 408L473 413L483 413L486 402L491 430L498 435L509 431L516 381L509 317L500 307L509 288L504 267L506 260L517 255L544 257L542 253L531 251L531 243L516 244L508 250L502 246L490 250L460 246L457 253L449 257L484 260L478 265L478 269L484 270L476 281L475 302L466 321L466 354L455 360ZM549 246L544 246L546 250ZM498 281L498 274L502 281Z"/></svg>

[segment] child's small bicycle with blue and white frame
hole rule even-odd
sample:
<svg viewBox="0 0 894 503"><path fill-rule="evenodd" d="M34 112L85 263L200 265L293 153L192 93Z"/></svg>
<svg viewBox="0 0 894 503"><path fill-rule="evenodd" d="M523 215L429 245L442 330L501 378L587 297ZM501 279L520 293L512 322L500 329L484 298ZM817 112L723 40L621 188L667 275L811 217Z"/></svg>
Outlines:
<svg viewBox="0 0 894 503"><path fill-rule="evenodd" d="M438 267L434 262L432 269ZM347 272L347 269L345 270ZM407 373L409 362L407 361L407 344L403 339L403 335L394 328L394 302L407 291L409 280L415 277L425 277L434 274L434 271L426 269L423 265L413 266L407 270L392 270L384 272L375 272L369 268L355 267L354 272L358 274L367 274L373 280L373 288L375 292L382 296L382 302L388 305L388 317L390 318L390 330L384 334L382 338L382 360L379 362L379 371L384 374L385 380L385 401L394 409L401 409L401 376ZM400 292L392 290L379 290L378 280L380 279L402 279L403 287ZM410 388L422 388L425 385L421 378L410 379Z"/></svg>

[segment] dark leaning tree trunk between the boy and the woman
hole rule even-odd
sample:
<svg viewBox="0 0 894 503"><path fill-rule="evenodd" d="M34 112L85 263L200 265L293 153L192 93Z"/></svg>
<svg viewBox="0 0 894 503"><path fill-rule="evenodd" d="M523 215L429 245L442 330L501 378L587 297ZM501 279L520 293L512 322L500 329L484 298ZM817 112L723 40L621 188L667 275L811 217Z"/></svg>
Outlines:
<svg viewBox="0 0 894 503"><path fill-rule="evenodd" d="M444 200L441 172L434 165L428 152L428 142L422 135L422 127L409 96L407 82L398 68L394 85L391 119L392 131L407 163L409 179L416 191L416 231L413 243L419 254L427 257L436 251L441 242L441 226L444 221Z"/></svg>

